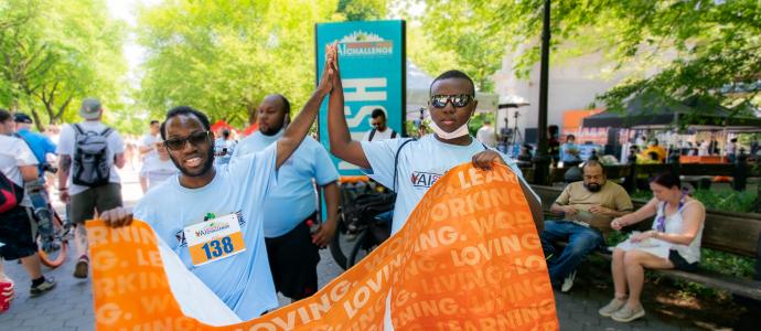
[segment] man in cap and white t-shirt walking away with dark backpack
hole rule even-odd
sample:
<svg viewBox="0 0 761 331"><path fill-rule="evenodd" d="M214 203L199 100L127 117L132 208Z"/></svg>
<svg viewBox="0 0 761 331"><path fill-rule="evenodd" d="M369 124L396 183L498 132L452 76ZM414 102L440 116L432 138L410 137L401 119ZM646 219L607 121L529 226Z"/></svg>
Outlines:
<svg viewBox="0 0 761 331"><path fill-rule="evenodd" d="M87 278L89 265L84 222L93 218L95 210L101 213L121 206L121 181L116 168L125 167L125 142L100 121L103 111L98 99L84 99L79 116L85 120L63 128L57 149L60 196L64 203L71 202L71 221L76 225L76 278Z"/></svg>

